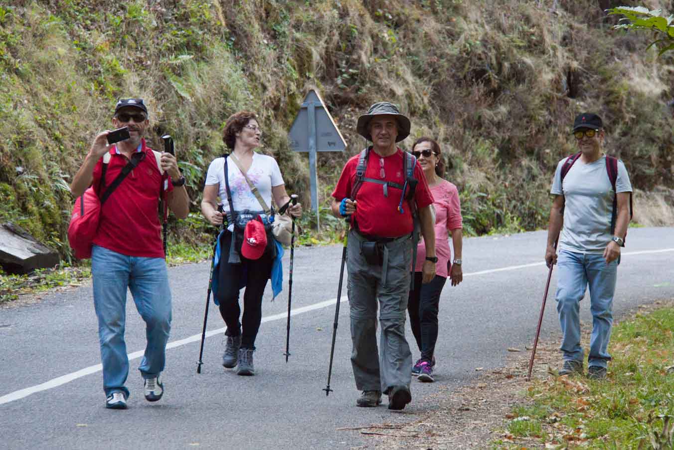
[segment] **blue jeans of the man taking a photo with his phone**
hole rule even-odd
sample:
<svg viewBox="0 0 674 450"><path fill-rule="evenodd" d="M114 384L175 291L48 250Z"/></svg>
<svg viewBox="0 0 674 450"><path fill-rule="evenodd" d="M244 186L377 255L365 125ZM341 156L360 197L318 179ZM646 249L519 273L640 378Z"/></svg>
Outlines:
<svg viewBox="0 0 674 450"><path fill-rule="evenodd" d="M171 290L163 258L125 256L107 248L92 249L94 308L98 318L100 359L105 395L122 391L129 374L129 358L124 342L127 287L135 307L146 323L148 340L140 364L143 378L164 370L166 343L171 331Z"/></svg>

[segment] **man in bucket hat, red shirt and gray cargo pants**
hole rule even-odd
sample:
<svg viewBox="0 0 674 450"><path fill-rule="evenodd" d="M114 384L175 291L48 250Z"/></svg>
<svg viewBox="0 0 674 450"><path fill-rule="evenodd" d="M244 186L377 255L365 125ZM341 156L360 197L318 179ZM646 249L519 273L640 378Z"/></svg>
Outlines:
<svg viewBox="0 0 674 450"><path fill-rule="evenodd" d="M332 213L350 217L346 253L351 364L356 387L363 391L357 405L377 406L383 392L389 409L402 410L412 399L412 354L404 330L412 247L416 249L412 237L419 225L427 255L423 282L428 283L437 262L433 196L415 157L396 146L410 134L410 120L395 105L372 105L359 117L357 131L372 146L346 163L332 192Z"/></svg>

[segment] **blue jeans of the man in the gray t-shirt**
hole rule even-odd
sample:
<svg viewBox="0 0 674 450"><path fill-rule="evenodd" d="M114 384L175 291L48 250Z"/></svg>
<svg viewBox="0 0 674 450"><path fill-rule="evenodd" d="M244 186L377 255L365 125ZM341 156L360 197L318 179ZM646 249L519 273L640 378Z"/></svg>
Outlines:
<svg viewBox="0 0 674 450"><path fill-rule="evenodd" d="M582 254L561 250L557 258L557 312L564 335L561 351L564 360L584 360L580 346L580 300L590 288L592 336L588 364L606 368L611 360L607 347L613 325L613 293L618 260L606 264L601 254Z"/></svg>

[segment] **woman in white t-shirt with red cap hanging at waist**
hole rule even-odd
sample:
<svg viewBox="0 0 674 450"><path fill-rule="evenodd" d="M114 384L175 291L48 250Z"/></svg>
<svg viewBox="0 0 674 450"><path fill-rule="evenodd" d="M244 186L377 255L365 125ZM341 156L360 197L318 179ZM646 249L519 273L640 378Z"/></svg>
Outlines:
<svg viewBox="0 0 674 450"><path fill-rule="evenodd" d="M278 163L274 158L254 151L260 144L260 136L262 130L257 117L250 111L240 111L229 117L222 132L224 144L232 150L241 167L247 171L248 178L255 184L266 205L269 207L272 204L272 198L277 205L284 205L290 198L286 194ZM230 198L227 195L226 185L231 192L233 214L230 213ZM223 213L218 211L218 197L222 200ZM299 217L302 205L297 203L290 206L288 213ZM234 368L238 364L237 374L254 375L253 351L255 337L262 321L262 296L272 273L276 247L268 223L269 218L264 214L263 206L251 191L231 155L227 156L226 160L224 157L214 159L208 167L202 214L216 226L222 225L225 215L229 219L228 229L220 237L220 262L218 272L214 273L218 285L214 300L219 304L220 314L227 326L225 333L227 343L222 356L222 365ZM248 259L241 254L241 227L236 227L239 234L233 239L234 221L241 224L245 219L258 215L268 229L268 245L262 256ZM239 290L244 285L246 289L243 294L243 317L241 317Z"/></svg>

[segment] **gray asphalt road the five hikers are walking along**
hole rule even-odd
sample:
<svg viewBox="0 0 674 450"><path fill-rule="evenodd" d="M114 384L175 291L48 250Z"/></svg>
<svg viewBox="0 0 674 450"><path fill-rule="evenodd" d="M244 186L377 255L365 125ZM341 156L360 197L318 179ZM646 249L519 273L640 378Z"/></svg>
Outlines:
<svg viewBox="0 0 674 450"><path fill-rule="evenodd" d="M298 248L293 279L290 360L285 347L285 291L264 299L255 351L256 376L223 370L224 327L210 309L202 374L196 373L210 264L170 269L173 329L163 379L166 393L148 403L137 372L144 323L129 296L127 349L135 356L129 409L106 410L96 316L89 284L0 309L0 449L348 449L367 443L353 430L376 422L408 422L437 407L433 394L497 368L508 347L531 343L547 277L545 232L464 240L464 282L446 285L436 347L437 382L412 381L402 412L359 408L350 368L348 303L340 308L334 368L326 397L328 358L341 247ZM286 252L286 260L290 252ZM619 316L674 298L674 228L630 229L618 269ZM285 269L287 271L287 261ZM542 336L556 335L553 282ZM344 296L346 289L344 289ZM330 302L332 300L332 302ZM586 299L587 300L587 299ZM321 304L322 303L322 304ZM582 304L590 324L588 301ZM408 338L412 339L408 329ZM413 357L419 357L410 344ZM609 347L610 351L610 347ZM136 353L133 355L133 353Z"/></svg>

